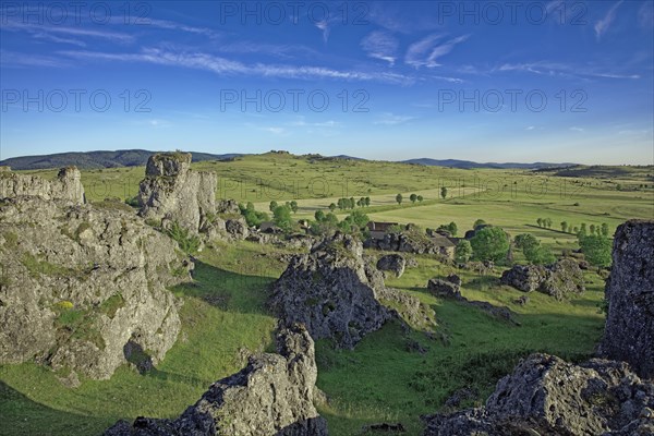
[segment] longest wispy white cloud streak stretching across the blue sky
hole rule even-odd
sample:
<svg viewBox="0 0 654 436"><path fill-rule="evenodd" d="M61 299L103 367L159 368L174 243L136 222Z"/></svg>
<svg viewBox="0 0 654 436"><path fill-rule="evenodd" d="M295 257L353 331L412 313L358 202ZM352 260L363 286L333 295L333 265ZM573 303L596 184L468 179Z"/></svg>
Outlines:
<svg viewBox="0 0 654 436"><path fill-rule="evenodd" d="M327 66L289 65L252 63L226 59L203 52L168 51L159 48L144 48L137 53L98 52L87 50L62 50L59 55L86 61L119 61L145 62L158 65L180 66L196 70L211 71L221 75L254 75L281 78L331 78L344 81L382 82L399 85L410 85L416 77L389 72L337 70Z"/></svg>

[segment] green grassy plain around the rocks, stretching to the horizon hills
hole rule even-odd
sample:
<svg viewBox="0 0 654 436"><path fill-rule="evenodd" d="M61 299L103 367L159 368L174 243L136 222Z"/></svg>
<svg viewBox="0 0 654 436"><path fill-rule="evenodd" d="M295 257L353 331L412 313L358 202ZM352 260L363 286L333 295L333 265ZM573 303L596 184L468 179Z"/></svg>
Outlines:
<svg viewBox="0 0 654 436"><path fill-rule="evenodd" d="M621 173L619 179L576 179L283 154L202 162L194 168L218 173L219 197L250 201L257 209L267 210L270 199L296 199L301 218L341 196L370 196L372 205L365 211L375 220L423 227L456 221L461 233L483 218L512 235L531 232L557 251L578 247L576 237L560 231L560 221L606 222L613 233L627 219L654 218L653 182L647 175L654 171ZM29 173L56 175L56 171ZM143 174L143 167L94 170L83 172L82 181L92 202L124 199L136 194ZM448 186L445 199L439 198L443 185ZM397 193L405 198L421 194L425 201L397 205ZM537 218L550 218L553 228L538 228ZM241 368L249 353L270 350L276 320L265 302L269 284L284 268L272 250L279 252L240 242L203 251L195 282L172 290L184 301L178 342L147 375L125 365L111 380L84 379L71 389L57 374L33 363L0 366L0 435L97 435L118 419L179 415L214 380ZM317 343L317 385L328 398L318 409L332 435L356 435L363 425L378 422L401 422L408 435L420 435L419 415L441 410L455 390L472 386L477 398L463 405L482 403L520 358L544 351L585 359L602 335L604 315L598 305L604 281L592 270L585 272L586 292L571 301L531 293L530 303L519 306L512 301L523 293L497 283L500 268L476 276L428 255L416 259L417 268L387 283L434 308L438 323L434 335L404 331L398 323L389 323L353 351ZM455 271L463 279L464 296L509 306L521 326L426 291L429 278ZM416 342L427 351L411 351Z"/></svg>

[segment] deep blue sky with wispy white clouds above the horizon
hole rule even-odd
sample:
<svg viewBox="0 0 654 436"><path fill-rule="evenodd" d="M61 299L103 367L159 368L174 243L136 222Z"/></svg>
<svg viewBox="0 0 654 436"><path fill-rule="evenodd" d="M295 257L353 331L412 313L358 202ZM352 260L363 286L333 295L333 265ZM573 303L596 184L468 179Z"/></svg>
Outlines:
<svg viewBox="0 0 654 436"><path fill-rule="evenodd" d="M654 164L652 1L13 2L0 158Z"/></svg>

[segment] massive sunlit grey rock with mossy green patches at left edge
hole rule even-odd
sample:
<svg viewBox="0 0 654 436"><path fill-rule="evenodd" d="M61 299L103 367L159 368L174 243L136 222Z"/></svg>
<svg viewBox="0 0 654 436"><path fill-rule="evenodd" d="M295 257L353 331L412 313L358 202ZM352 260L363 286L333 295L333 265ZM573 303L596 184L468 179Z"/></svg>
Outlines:
<svg viewBox="0 0 654 436"><path fill-rule="evenodd" d="M179 329L174 242L129 206L40 196L0 203L0 363L109 378L133 341L159 362Z"/></svg>

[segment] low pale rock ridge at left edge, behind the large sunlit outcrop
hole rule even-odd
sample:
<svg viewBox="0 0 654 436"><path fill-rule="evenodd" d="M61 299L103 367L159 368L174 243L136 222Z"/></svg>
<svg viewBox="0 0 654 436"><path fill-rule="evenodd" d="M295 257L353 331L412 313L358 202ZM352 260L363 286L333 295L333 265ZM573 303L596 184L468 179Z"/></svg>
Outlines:
<svg viewBox="0 0 654 436"><path fill-rule="evenodd" d="M85 203L82 174L75 167L62 168L55 180L37 175L23 175L4 167L0 171L0 199L36 196L43 199L62 199L75 204Z"/></svg>

